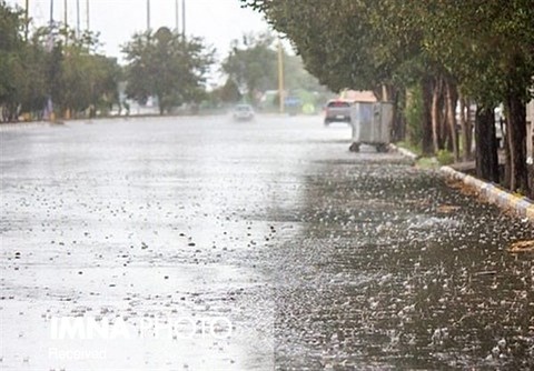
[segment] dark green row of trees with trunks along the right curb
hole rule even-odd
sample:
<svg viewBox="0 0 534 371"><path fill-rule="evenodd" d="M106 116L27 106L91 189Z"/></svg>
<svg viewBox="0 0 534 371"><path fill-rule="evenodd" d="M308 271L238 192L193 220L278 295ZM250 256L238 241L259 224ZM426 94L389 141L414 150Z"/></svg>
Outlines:
<svg viewBox="0 0 534 371"><path fill-rule="evenodd" d="M525 104L534 76L532 0L241 2L285 33L306 68L332 90L374 90L397 102L397 139L409 134L403 113L421 97L421 124L412 130L421 133L425 153L451 149L455 159L469 159L467 112L476 103L476 169L492 181L500 180L494 109L503 104L503 183L530 194Z"/></svg>

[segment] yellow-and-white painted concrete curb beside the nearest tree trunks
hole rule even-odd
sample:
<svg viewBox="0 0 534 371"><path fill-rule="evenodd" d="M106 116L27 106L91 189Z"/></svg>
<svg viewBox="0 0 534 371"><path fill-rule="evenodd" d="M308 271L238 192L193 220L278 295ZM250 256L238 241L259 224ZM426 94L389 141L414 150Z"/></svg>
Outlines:
<svg viewBox="0 0 534 371"><path fill-rule="evenodd" d="M461 180L466 186L473 187L481 192L481 195L491 203L503 209L512 210L523 218L534 222L534 203L526 197L517 197L502 188L456 171L451 167L442 167L439 171L448 178Z"/></svg>

